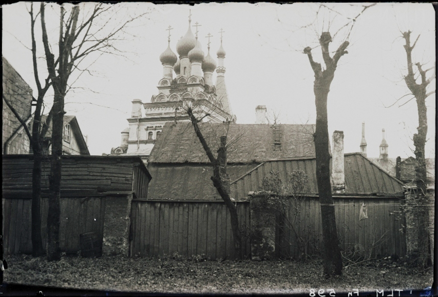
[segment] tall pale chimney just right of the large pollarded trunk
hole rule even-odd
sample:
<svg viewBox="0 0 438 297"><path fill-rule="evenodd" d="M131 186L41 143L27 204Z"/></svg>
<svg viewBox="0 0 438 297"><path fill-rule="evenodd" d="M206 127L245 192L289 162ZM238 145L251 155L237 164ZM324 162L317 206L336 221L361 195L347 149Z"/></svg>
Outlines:
<svg viewBox="0 0 438 297"><path fill-rule="evenodd" d="M344 172L344 132L333 132L333 157L332 157L332 188L334 193L345 192Z"/></svg>

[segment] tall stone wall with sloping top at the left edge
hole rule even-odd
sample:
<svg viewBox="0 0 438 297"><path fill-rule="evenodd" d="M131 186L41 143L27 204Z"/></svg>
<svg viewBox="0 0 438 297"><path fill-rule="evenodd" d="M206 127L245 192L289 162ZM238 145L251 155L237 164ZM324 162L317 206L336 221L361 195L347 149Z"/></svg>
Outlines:
<svg viewBox="0 0 438 297"><path fill-rule="evenodd" d="M26 121L31 114L32 89L18 74L17 71L3 58L3 96L15 108L20 117ZM3 137L2 154L4 154L5 142L14 132L20 128L21 124L12 113L11 109L5 104L3 99ZM9 146L8 154L28 154L29 139L26 133L16 135Z"/></svg>

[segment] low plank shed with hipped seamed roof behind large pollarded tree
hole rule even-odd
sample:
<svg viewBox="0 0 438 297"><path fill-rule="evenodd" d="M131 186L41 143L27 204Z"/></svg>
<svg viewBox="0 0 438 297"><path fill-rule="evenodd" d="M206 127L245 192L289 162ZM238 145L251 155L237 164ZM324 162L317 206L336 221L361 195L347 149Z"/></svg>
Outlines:
<svg viewBox="0 0 438 297"><path fill-rule="evenodd" d="M405 202L403 183L380 169L360 153L344 155L345 193L334 194L338 236L344 251L375 256L406 255L405 217L396 215ZM277 255L298 258L304 243L306 252L322 249L321 213L316 183L315 158L273 159L261 163L231 183L231 197L247 199L262 190L262 180L278 173L283 184L289 174L300 170L308 176L308 192L303 194L298 215L292 208L288 219L295 231L276 232ZM360 219L363 206L368 218ZM254 218L251 218L254 219Z"/></svg>

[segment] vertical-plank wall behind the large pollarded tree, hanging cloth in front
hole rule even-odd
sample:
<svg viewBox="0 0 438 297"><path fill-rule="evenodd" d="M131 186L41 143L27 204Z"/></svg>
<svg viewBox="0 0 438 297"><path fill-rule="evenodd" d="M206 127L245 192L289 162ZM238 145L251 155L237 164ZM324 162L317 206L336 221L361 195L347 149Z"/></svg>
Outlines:
<svg viewBox="0 0 438 297"><path fill-rule="evenodd" d="M368 219L359 220L361 205L368 208ZM399 210L398 199L335 198L335 216L338 237L346 253L371 256L406 255L404 234L405 217L398 218L390 212ZM300 257L298 237L306 243L307 253L322 250L322 227L319 201L306 198L301 201L300 211L294 215L289 209L285 227L281 229L279 248L283 257ZM287 221L294 222L296 232L287 227ZM290 226L290 225L289 225ZM402 230L402 231L401 231Z"/></svg>

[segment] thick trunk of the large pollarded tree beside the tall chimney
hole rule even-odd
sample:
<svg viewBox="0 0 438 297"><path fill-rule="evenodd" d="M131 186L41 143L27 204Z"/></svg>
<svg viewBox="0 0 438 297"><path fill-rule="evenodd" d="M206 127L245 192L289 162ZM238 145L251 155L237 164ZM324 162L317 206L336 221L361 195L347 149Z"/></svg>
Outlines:
<svg viewBox="0 0 438 297"><path fill-rule="evenodd" d="M317 86L315 81L316 104L316 181L322 218L322 240L324 246L324 274L342 274L342 258L336 231L335 210L330 184L329 130L327 124L327 86Z"/></svg>

